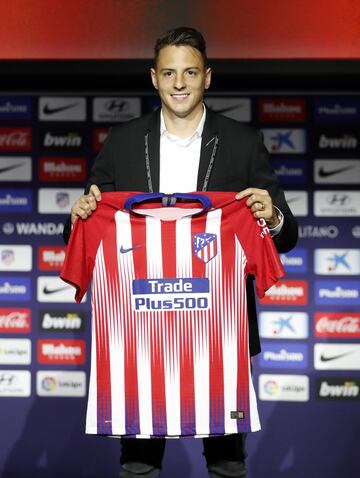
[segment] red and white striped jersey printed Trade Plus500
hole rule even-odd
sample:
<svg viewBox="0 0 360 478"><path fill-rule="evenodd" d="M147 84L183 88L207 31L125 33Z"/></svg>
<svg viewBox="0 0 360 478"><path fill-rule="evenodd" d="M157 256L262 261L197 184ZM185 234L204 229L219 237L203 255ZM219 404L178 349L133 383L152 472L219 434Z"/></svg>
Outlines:
<svg viewBox="0 0 360 478"><path fill-rule="evenodd" d="M264 220L235 193L103 193L78 220L62 279L92 279L86 432L211 436L260 429L246 278L283 268Z"/></svg>

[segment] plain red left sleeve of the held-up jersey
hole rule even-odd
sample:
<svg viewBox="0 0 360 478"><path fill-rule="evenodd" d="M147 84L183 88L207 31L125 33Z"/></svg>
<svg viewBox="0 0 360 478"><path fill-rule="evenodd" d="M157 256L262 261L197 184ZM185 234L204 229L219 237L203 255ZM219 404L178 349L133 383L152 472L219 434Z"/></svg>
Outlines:
<svg viewBox="0 0 360 478"><path fill-rule="evenodd" d="M75 300L78 303L92 278L96 253L113 212L102 200L88 219L76 221L71 232L60 278L75 287Z"/></svg>

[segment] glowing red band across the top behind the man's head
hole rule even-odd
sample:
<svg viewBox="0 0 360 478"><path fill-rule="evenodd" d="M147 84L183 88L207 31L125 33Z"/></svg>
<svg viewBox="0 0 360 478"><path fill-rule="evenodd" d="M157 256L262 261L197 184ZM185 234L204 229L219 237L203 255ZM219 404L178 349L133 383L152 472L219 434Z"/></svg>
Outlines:
<svg viewBox="0 0 360 478"><path fill-rule="evenodd" d="M6 6L5 6L6 3ZM199 28L211 58L360 58L358 0L13 0L0 59L151 58L154 38Z"/></svg>

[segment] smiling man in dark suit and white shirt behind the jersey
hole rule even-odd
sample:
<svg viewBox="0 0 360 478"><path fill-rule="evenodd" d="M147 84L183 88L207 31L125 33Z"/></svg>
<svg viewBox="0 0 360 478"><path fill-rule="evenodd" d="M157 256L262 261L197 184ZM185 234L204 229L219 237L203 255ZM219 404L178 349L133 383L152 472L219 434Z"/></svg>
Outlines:
<svg viewBox="0 0 360 478"><path fill-rule="evenodd" d="M71 209L71 223L86 219L108 191L240 191L236 199L255 218L263 218L276 248L286 252L297 241L297 224L285 201L259 134L217 115L203 104L211 82L206 45L192 28L177 28L155 45L151 79L161 110L109 131L94 166L86 194ZM64 237L70 235L70 221ZM260 351L252 284L247 287L250 353ZM245 436L204 439L209 476L244 477ZM121 478L159 476L165 439L121 440Z"/></svg>

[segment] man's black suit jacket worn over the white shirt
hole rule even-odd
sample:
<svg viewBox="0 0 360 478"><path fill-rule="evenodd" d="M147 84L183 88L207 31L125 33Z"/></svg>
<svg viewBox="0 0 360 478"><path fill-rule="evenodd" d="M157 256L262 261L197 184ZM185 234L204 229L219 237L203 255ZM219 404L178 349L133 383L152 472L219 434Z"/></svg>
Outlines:
<svg viewBox="0 0 360 478"><path fill-rule="evenodd" d="M95 160L86 187L97 184L106 191L158 191L160 163L160 110L110 129ZM267 189L284 215L281 232L274 237L279 252L292 249L298 237L297 222L268 161L261 135L237 121L207 109L197 190L239 192L248 187ZM70 236L70 221L64 239ZM260 351L254 289L248 281L250 353Z"/></svg>

